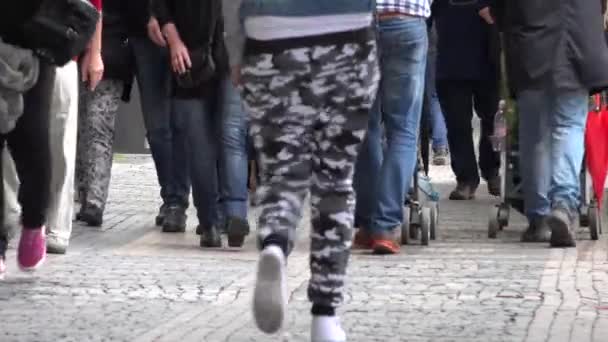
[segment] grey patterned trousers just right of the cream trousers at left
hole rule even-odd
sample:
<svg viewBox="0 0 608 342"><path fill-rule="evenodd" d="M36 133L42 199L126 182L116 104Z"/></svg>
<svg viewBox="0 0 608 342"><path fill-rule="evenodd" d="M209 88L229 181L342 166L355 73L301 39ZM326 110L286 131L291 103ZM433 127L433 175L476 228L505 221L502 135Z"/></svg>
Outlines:
<svg viewBox="0 0 608 342"><path fill-rule="evenodd" d="M94 91L80 96L76 181L83 208L104 211L114 145L114 123L123 82L102 80Z"/></svg>

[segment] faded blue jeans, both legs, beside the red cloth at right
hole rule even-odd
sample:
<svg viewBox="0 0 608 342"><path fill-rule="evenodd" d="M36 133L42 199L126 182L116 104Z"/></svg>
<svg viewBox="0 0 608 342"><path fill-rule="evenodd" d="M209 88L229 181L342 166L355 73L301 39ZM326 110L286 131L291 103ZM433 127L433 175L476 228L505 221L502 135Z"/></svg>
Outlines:
<svg viewBox="0 0 608 342"><path fill-rule="evenodd" d="M560 206L578 212L588 91L527 90L518 95L520 169L526 216Z"/></svg>

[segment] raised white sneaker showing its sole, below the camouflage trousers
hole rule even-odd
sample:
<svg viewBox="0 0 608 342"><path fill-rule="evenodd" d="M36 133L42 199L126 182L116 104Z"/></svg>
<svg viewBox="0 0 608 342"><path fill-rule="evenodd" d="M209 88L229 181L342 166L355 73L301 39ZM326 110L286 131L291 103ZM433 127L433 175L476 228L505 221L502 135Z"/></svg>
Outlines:
<svg viewBox="0 0 608 342"><path fill-rule="evenodd" d="M274 334L283 326L287 312L285 254L280 247L268 246L260 253L253 293L253 315L260 330Z"/></svg>

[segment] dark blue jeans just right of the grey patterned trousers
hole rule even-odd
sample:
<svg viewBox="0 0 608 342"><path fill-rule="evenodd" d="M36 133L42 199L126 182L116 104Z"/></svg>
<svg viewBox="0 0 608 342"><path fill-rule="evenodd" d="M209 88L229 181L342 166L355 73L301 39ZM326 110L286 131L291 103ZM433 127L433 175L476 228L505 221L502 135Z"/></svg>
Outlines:
<svg viewBox="0 0 608 342"><path fill-rule="evenodd" d="M171 108L167 51L148 38L132 37L136 77L150 152L156 166L160 195L166 205L188 206L190 175L185 127Z"/></svg>

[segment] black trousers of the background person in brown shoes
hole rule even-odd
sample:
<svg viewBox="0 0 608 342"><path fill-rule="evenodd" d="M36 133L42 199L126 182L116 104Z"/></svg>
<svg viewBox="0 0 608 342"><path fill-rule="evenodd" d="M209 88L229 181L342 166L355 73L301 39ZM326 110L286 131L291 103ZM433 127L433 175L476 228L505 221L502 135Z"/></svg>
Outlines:
<svg viewBox="0 0 608 342"><path fill-rule="evenodd" d="M494 116L499 93L496 80L437 80L437 93L448 129L452 170L459 184L479 185L479 170L484 179L498 175L500 155L492 149ZM481 119L479 166L473 144L473 110Z"/></svg>

